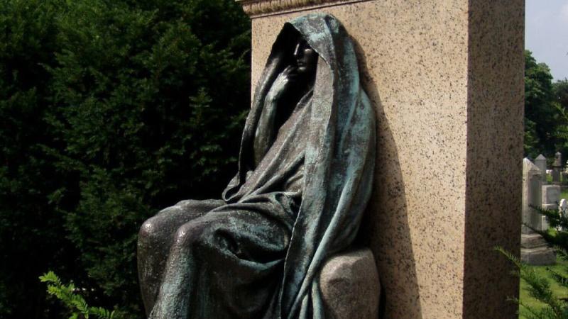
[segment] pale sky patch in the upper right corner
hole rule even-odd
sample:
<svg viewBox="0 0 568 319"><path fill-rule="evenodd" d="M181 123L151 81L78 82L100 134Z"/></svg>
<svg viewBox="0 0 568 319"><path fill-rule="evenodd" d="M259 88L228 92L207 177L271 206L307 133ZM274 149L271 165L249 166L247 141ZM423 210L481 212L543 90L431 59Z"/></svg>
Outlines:
<svg viewBox="0 0 568 319"><path fill-rule="evenodd" d="M525 0L525 49L550 67L554 82L568 78L568 0Z"/></svg>

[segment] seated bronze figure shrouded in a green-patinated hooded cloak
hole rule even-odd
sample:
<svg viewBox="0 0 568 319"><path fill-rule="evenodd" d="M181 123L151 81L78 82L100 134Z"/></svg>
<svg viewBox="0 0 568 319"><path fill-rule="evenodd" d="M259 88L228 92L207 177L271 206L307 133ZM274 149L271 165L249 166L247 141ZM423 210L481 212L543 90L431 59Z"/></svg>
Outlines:
<svg viewBox="0 0 568 319"><path fill-rule="evenodd" d="M149 318L324 318L318 274L359 229L375 115L333 16L285 24L256 86L239 171L220 200L182 201L141 227Z"/></svg>

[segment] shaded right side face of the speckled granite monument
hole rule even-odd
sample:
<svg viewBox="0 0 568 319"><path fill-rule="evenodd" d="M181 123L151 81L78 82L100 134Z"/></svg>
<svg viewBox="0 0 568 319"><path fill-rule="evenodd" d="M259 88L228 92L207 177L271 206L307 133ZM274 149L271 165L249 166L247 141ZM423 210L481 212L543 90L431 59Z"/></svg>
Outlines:
<svg viewBox="0 0 568 319"><path fill-rule="evenodd" d="M523 0L469 0L464 318L517 318L510 264L520 251Z"/></svg>

